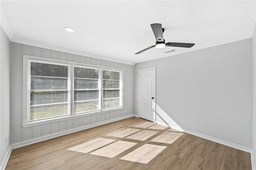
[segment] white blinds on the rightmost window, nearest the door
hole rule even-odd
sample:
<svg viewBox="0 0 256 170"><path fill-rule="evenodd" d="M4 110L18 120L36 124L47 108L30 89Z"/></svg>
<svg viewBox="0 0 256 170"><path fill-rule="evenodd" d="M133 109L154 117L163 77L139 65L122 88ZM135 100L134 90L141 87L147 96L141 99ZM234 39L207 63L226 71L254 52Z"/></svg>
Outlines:
<svg viewBox="0 0 256 170"><path fill-rule="evenodd" d="M103 109L122 106L121 72L103 70Z"/></svg>

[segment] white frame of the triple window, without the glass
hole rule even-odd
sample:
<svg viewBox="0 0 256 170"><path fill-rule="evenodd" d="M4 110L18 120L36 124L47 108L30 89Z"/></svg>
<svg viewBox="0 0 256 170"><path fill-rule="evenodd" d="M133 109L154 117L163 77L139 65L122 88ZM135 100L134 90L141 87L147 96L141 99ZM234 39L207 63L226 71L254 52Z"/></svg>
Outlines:
<svg viewBox="0 0 256 170"><path fill-rule="evenodd" d="M69 67L68 67L69 68L68 74L70 76L70 81L68 82L68 84L69 84L68 86L70 86L70 110L69 110L70 114L69 115L28 122L28 104L30 103L30 98L28 98L28 95L27 95L28 88L30 88L30 87L28 87L28 71L30 70L28 68L28 60L42 61L42 62L46 62L46 63L54 62L56 64L65 64L65 65L68 64L69 65ZM99 72L100 72L100 74L99 74L100 109L99 110L86 111L86 112L74 114L74 66L99 69ZM22 78L23 78L22 79L22 82L23 82L22 83L22 85L23 85L23 93L22 93L23 124L22 124L22 126L24 128L124 109L124 69L122 69L122 68L113 68L113 67L99 66L99 65L94 65L94 64L78 63L78 62L73 62L73 61L65 61L65 60L50 59L50 58L45 58L45 57L36 57L36 56L31 56L31 55L23 55L23 68L22 69L23 69L23 76L22 76ZM120 94L120 98L122 97L121 106L103 109L103 70L112 70L112 71L120 72L120 76L121 76L121 78L120 78L121 88L120 89L122 90L122 93Z"/></svg>

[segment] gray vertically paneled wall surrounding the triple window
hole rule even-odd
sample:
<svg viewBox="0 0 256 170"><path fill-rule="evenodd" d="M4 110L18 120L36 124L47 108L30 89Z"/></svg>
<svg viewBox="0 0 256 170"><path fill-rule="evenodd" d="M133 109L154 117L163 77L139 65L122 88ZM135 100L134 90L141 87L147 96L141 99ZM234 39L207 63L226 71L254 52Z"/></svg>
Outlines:
<svg viewBox="0 0 256 170"><path fill-rule="evenodd" d="M99 123L102 121L122 117L133 114L134 106L134 66L122 63L115 63L90 57L73 55L19 43L11 43L12 57L12 74L11 74L11 143L19 143L22 141L62 132L76 127L84 126L84 120L87 125ZM34 127L22 127L22 57L23 55L32 55L38 57L60 59L66 61L74 61L87 64L96 64L100 66L108 66L124 69L124 109L118 111L109 111L95 115L84 116ZM127 113L125 113L127 110Z"/></svg>

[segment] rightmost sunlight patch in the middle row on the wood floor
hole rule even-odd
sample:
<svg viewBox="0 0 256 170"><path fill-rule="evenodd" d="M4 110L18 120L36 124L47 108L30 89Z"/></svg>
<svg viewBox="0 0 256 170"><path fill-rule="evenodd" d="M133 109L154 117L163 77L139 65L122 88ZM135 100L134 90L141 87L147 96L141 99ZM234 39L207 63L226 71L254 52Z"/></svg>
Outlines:
<svg viewBox="0 0 256 170"><path fill-rule="evenodd" d="M181 137L182 133L172 133L172 132L164 132L158 137L152 139L152 142L159 142L159 143L168 143L172 144L176 141L179 137Z"/></svg>

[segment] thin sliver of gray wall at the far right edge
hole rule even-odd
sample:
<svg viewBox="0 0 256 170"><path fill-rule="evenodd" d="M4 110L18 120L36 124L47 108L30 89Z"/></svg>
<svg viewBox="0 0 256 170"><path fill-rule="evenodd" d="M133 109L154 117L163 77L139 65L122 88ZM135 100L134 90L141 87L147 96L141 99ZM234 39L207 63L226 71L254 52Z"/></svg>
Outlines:
<svg viewBox="0 0 256 170"><path fill-rule="evenodd" d="M253 58L253 119L252 119L252 136L253 136L253 155L254 163L256 162L256 23L252 36L252 58ZM253 161L252 161L253 162ZM254 165L255 166L255 165ZM252 167L253 168L253 167Z"/></svg>

